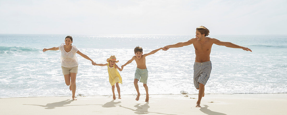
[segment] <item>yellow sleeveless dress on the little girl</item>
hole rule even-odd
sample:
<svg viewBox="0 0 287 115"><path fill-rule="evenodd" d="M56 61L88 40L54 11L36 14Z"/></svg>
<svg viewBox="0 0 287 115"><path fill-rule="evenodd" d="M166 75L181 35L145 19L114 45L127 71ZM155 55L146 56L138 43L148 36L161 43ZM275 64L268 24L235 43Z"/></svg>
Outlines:
<svg viewBox="0 0 287 115"><path fill-rule="evenodd" d="M110 81L110 85L113 86L118 82L123 84L122 77L118 72L118 69L115 68L115 65L112 68L109 65L110 63L108 63L108 80Z"/></svg>

